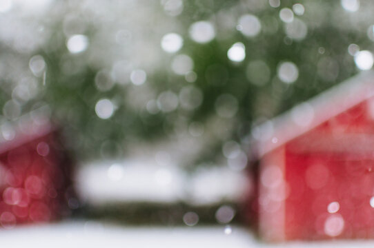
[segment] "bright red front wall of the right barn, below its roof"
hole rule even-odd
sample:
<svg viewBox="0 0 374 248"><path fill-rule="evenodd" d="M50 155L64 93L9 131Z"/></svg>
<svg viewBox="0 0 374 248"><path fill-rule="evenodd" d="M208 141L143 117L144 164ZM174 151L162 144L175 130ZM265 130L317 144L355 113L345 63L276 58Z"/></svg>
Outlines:
<svg viewBox="0 0 374 248"><path fill-rule="evenodd" d="M266 240L374 238L372 110L371 101L360 103L263 156Z"/></svg>

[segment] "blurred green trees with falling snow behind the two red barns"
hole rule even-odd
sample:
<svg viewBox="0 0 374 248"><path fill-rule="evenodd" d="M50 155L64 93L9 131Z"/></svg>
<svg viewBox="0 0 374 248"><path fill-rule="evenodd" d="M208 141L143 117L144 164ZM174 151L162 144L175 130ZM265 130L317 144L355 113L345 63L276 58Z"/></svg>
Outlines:
<svg viewBox="0 0 374 248"><path fill-rule="evenodd" d="M1 123L47 104L83 158L242 169L254 124L373 65L371 1L40 2L0 6Z"/></svg>

